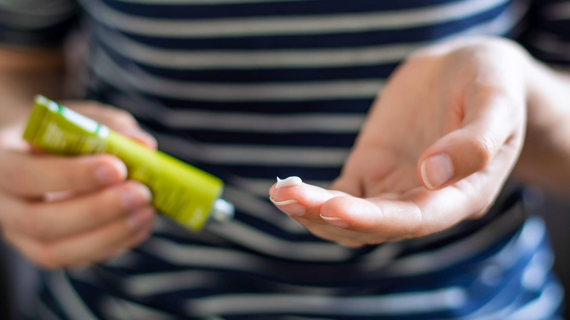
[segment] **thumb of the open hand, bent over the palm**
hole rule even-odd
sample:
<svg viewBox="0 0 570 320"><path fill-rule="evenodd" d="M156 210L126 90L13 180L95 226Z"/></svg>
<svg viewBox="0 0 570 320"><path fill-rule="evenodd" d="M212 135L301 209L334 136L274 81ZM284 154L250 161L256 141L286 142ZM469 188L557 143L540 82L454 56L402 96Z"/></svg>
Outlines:
<svg viewBox="0 0 570 320"><path fill-rule="evenodd" d="M417 175L426 188L443 188L482 170L504 143L521 134L521 101L492 89L466 99L461 128L436 141L418 159Z"/></svg>

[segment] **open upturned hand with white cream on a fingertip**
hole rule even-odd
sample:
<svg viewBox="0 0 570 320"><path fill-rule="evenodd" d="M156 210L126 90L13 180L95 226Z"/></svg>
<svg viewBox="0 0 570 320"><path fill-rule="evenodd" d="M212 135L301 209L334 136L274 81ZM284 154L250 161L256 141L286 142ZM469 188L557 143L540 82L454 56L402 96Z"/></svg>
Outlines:
<svg viewBox="0 0 570 320"><path fill-rule="evenodd" d="M527 60L517 44L490 38L417 52L390 76L331 190L292 178L270 198L348 247L481 217L522 148Z"/></svg>

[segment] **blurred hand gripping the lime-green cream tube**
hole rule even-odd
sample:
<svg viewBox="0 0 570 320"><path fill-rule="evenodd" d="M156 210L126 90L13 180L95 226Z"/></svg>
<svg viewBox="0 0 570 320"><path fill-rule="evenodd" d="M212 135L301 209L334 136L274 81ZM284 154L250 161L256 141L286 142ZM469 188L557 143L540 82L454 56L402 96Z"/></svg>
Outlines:
<svg viewBox="0 0 570 320"><path fill-rule="evenodd" d="M127 112L90 101L64 105L156 148ZM0 226L8 243L54 269L103 261L148 237L152 195L125 181L123 162L108 154L38 153L22 132L23 121L0 128Z"/></svg>

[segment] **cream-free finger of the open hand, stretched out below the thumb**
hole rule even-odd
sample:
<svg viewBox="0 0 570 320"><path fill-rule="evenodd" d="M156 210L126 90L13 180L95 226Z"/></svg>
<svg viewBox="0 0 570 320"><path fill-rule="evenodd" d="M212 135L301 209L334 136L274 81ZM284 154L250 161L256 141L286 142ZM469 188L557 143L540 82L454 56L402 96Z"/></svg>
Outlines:
<svg viewBox="0 0 570 320"><path fill-rule="evenodd" d="M515 146L507 146L483 170L439 190L415 188L401 199L338 196L320 207L321 216L338 227L381 235L385 240L420 237L478 218L498 194L508 175Z"/></svg>

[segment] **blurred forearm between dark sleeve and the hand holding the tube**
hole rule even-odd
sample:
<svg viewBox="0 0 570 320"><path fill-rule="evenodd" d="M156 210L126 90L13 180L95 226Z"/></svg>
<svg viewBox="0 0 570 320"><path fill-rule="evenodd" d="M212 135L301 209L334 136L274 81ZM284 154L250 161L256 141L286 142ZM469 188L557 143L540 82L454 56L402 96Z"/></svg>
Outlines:
<svg viewBox="0 0 570 320"><path fill-rule="evenodd" d="M0 126L24 116L36 93L60 97L62 80L60 51L0 47Z"/></svg>

